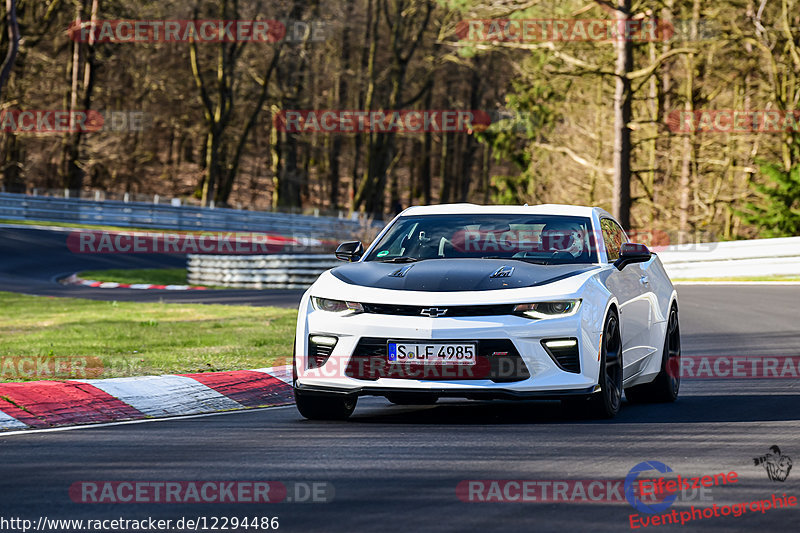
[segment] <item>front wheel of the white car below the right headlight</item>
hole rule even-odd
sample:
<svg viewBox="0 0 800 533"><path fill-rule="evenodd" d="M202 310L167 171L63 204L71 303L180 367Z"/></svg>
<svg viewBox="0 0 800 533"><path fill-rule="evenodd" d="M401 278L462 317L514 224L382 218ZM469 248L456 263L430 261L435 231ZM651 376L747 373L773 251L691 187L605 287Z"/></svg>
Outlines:
<svg viewBox="0 0 800 533"><path fill-rule="evenodd" d="M603 324L600 370L597 376L600 391L591 396L568 397L561 405L578 418L614 418L622 403L622 337L619 318L611 311Z"/></svg>

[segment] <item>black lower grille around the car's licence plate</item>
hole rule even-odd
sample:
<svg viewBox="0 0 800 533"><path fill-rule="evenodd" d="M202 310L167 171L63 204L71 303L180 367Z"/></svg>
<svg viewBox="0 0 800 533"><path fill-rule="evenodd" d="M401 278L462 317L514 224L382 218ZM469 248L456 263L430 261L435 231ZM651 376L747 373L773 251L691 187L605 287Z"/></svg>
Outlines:
<svg viewBox="0 0 800 533"><path fill-rule="evenodd" d="M463 340L402 340L397 342L465 342ZM345 374L351 378L377 380L378 378L417 379L427 381L492 380L496 383L523 381L530 372L514 343L508 339L482 339L477 341L478 353L474 366L422 365L390 363L387 357L389 339L363 337L358 341Z"/></svg>

